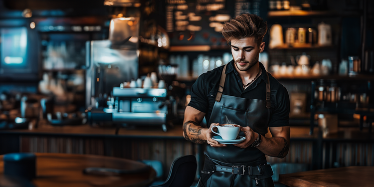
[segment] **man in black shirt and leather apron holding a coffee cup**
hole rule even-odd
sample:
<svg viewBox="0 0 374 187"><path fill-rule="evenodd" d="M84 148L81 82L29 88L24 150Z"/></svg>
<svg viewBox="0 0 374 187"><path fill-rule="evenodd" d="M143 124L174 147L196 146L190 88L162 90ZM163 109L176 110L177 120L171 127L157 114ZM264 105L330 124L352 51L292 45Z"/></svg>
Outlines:
<svg viewBox="0 0 374 187"><path fill-rule="evenodd" d="M287 90L258 61L267 23L254 14L226 22L222 35L233 60L200 75L191 89L183 125L186 140L207 143L199 187L274 187L265 155L284 158L289 149ZM208 128L200 126L205 117ZM237 144L213 140L212 125L240 125ZM265 137L270 130L271 138Z"/></svg>

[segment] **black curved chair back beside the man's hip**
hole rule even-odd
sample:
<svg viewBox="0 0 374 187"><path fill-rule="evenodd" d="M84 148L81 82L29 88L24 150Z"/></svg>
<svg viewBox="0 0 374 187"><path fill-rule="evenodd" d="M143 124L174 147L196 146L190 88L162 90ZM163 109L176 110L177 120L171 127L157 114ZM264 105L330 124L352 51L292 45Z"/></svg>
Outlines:
<svg viewBox="0 0 374 187"><path fill-rule="evenodd" d="M161 185L151 187L190 187L195 179L196 158L187 155L177 158L170 168L168 179Z"/></svg>

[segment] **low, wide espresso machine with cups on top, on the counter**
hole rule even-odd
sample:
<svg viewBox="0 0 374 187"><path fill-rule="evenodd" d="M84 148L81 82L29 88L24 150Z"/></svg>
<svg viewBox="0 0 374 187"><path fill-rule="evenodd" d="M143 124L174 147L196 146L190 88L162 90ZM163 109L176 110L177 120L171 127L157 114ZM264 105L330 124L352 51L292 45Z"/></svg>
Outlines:
<svg viewBox="0 0 374 187"><path fill-rule="evenodd" d="M160 126L166 132L171 101L165 88L114 87L104 108L91 108L88 119L116 127Z"/></svg>

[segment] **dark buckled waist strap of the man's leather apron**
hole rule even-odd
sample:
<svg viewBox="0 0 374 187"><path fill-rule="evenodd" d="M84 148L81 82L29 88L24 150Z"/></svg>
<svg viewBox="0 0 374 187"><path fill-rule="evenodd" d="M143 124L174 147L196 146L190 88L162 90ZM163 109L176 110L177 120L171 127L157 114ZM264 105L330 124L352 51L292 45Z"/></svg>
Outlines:
<svg viewBox="0 0 374 187"><path fill-rule="evenodd" d="M254 176L261 176L266 173L267 171L271 171L271 166L265 164L263 166L219 166L215 165L215 171L217 172L226 172L231 173L232 175L254 175Z"/></svg>

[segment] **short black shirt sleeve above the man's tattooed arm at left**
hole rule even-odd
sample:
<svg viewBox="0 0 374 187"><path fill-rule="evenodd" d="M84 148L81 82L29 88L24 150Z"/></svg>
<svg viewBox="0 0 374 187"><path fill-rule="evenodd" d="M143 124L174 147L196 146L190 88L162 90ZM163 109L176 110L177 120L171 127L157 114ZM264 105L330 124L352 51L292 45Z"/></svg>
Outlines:
<svg viewBox="0 0 374 187"><path fill-rule="evenodd" d="M191 87L191 101L188 106L193 107L200 112L207 112L208 109L208 98L207 98L207 86L205 85L206 73L201 74L195 83Z"/></svg>

